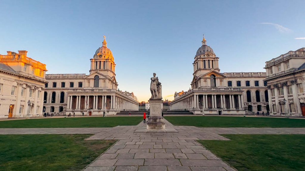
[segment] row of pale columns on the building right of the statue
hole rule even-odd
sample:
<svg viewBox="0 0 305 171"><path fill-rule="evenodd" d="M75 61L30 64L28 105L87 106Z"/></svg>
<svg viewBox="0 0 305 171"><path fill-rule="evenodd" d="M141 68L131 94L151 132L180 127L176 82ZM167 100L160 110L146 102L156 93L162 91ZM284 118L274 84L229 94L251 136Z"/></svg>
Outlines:
<svg viewBox="0 0 305 171"><path fill-rule="evenodd" d="M211 96L211 106L208 106L208 95ZM243 96L241 94L235 95L235 97L237 96L236 99L236 103L238 103L238 105L235 105L235 100L234 100L234 95L233 94L221 94L218 95L220 96L220 98L216 98L216 94L203 94L201 95L201 99L199 100L199 96L200 95L192 95L192 96L188 96L186 98L182 98L179 99L177 102L171 102L170 104L170 109L171 110L178 110L178 109L202 109L203 108L222 108L225 110L242 110L244 109L244 103L243 103ZM227 96L227 100L225 100ZM228 97L229 96L229 97ZM229 98L229 99L228 99ZM220 102L219 102L220 100ZM228 104L226 104L226 101ZM218 104L220 103L220 106L217 106L217 102Z"/></svg>

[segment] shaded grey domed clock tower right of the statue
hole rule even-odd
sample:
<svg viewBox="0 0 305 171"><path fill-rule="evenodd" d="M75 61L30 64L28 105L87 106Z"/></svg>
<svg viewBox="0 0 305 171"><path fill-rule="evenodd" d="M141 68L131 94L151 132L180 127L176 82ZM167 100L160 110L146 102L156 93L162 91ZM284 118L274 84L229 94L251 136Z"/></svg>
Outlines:
<svg viewBox="0 0 305 171"><path fill-rule="evenodd" d="M199 77L210 71L220 72L218 65L219 58L216 57L213 49L206 45L206 39L203 35L202 46L196 52L194 66L194 76Z"/></svg>

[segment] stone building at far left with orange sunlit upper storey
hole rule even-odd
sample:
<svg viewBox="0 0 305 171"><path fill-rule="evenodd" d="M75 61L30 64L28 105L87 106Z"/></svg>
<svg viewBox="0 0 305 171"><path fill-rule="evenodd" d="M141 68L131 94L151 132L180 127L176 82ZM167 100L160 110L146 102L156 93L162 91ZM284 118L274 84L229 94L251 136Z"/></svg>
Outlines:
<svg viewBox="0 0 305 171"><path fill-rule="evenodd" d="M46 71L27 51L0 54L0 118L41 116Z"/></svg>

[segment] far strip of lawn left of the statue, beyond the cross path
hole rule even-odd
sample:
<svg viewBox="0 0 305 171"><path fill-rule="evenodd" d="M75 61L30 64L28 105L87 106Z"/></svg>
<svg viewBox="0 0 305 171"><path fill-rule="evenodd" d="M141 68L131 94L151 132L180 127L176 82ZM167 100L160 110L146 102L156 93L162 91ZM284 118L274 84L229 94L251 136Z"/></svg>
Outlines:
<svg viewBox="0 0 305 171"><path fill-rule="evenodd" d="M67 117L0 121L0 128L75 128L137 125L143 117Z"/></svg>

